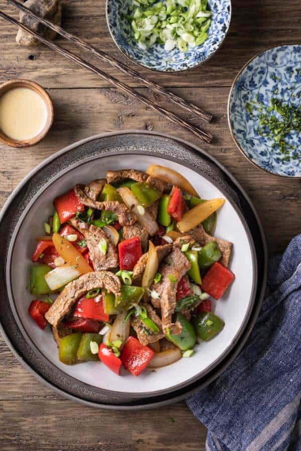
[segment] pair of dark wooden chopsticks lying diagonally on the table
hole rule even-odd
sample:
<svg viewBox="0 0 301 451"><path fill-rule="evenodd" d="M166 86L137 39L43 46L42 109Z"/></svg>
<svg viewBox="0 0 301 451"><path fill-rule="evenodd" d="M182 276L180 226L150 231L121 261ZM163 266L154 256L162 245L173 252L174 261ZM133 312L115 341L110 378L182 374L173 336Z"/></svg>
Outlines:
<svg viewBox="0 0 301 451"><path fill-rule="evenodd" d="M39 22L44 24L46 27L49 27L50 29L54 30L57 34L63 36L64 38L66 38L69 41L71 41L74 44L76 44L78 47L81 47L84 50L86 50L89 53L91 53L92 55L98 57L100 60L105 61L106 63L109 63L111 66L121 70L126 75L132 76L134 79L140 81L145 86L147 86L149 88L152 88L154 91L157 91L160 94L165 95L170 101L176 103L178 106L181 106L181 107L185 108L186 110L190 111L191 113L196 114L203 121L209 122L212 119L212 116L209 113L203 111L198 106L194 105L191 102L188 102L188 101L182 99L177 94L174 94L174 93L168 91L163 86L160 86L157 83L154 83L154 82L142 77L138 72L128 68L124 64L122 64L119 61L115 60L113 57L105 54L104 52L101 52L101 51L95 49L95 47L90 46L87 42L81 40L80 38L77 38L76 36L72 35L71 33L66 32L61 27L58 27L57 25L52 24L48 20L46 20L44 18L41 18L40 16L36 15L31 10L26 8L24 5L20 4L19 2L16 2L16 0L8 0L8 3L10 3L11 5L16 7L18 10L22 11L23 13L25 13L25 14L27 14L27 15L35 18L35 19L37 19ZM36 39L38 39L40 42L42 42L46 46L50 47L51 49L55 50L56 52L60 53L65 58L68 58L69 60L73 61L74 63L78 64L81 67L89 69L91 72L93 72L94 74L98 75L100 78L102 78L105 81L111 83L115 88L120 89L121 91L125 92L126 94L128 94L131 97L137 98L138 100L140 100L145 105L147 105L150 108L152 108L153 110L161 113L163 116L165 116L171 122L179 124L182 127L184 127L185 129L189 130L190 132L192 132L193 134L195 134L196 136L201 138L206 143L210 143L211 142L213 136L210 133L205 132L204 130L200 129L199 127L197 127L197 126L195 126L193 124L190 124L189 122L185 121L184 119L182 119L177 114L175 114L175 113L173 113L171 111L168 111L165 108L157 105L152 100L149 100L147 97L144 97L141 94L137 93L136 91L134 91L133 89L131 89L127 85L125 85L124 83L122 83L119 80L117 80L116 78L111 77L110 75L106 74L105 72L99 70L95 66L93 66L90 63L84 61L83 59L81 59L80 57L78 57L78 56L74 55L73 53L69 52L65 48L57 46L52 41L40 36L38 33L34 32L30 28L26 27L21 22L16 21L12 17L6 15L2 11L0 11L0 17L5 19L6 21L10 22L11 24L15 25L16 27L21 28L25 32L31 34Z"/></svg>

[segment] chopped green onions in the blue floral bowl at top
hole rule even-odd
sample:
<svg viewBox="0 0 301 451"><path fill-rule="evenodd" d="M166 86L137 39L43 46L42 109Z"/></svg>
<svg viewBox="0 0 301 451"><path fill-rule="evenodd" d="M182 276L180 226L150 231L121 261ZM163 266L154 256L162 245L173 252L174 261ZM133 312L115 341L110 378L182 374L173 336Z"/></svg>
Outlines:
<svg viewBox="0 0 301 451"><path fill-rule="evenodd" d="M137 46L147 50L155 43L166 51L186 52L208 39L211 12L207 0L130 0L128 15Z"/></svg>

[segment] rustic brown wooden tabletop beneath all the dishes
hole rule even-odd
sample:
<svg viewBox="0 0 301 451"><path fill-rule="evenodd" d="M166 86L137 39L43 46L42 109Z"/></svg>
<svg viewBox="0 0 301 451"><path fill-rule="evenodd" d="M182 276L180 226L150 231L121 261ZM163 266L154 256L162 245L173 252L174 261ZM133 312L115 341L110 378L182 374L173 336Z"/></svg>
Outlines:
<svg viewBox="0 0 301 451"><path fill-rule="evenodd" d="M104 0L67 0L63 27L128 64L116 49L106 27ZM17 17L13 8L1 9ZM100 5L101 4L101 5ZM300 181L277 178L253 167L231 139L226 116L231 83L253 55L300 37L299 0L233 0L233 18L223 48L203 66L180 74L157 74L140 69L150 79L171 87L215 116L206 126L215 135L203 147L229 168L254 202L271 254L280 252L300 232ZM110 89L99 78L43 46L19 47L16 30L1 22L0 82L11 78L37 81L49 90L55 122L37 146L15 150L0 146L0 202L38 163L67 144L93 134L125 129L156 130L202 143L138 101ZM57 41L67 49L67 42ZM100 67L152 96L114 69ZM160 99L158 98L158 101ZM174 109L171 104L163 105ZM183 117L197 123L186 112ZM95 410L62 398L41 385L15 359L0 338L0 440L3 450L172 450L204 449L206 428L185 403L160 411L122 413ZM174 422L169 420L174 419Z"/></svg>

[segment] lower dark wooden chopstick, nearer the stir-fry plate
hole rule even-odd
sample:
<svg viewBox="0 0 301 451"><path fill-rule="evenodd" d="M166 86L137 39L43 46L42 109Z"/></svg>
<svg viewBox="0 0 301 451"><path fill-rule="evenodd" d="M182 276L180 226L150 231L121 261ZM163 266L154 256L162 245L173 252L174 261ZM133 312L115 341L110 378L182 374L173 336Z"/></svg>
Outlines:
<svg viewBox="0 0 301 451"><path fill-rule="evenodd" d="M46 46L50 47L51 49L55 50L56 52L63 55L65 58L68 58L69 60L73 61L74 63L78 64L81 67L84 67L86 69L89 69L91 72L94 72L94 74L98 75L100 78L104 79L108 83L111 83L115 88L120 89L121 91L125 92L131 97L136 97L139 99L142 103L149 106L153 110L157 111L158 113L163 114L167 119L169 119L171 122L174 122L175 124L181 125L185 129L192 132L194 135L196 135L198 138L201 138L206 143L210 143L213 136L210 133L205 132L204 130L200 129L199 127L196 127L193 124L190 124L189 122L186 122L183 120L180 116L177 114L166 110L165 108L156 105L153 101L147 99L146 97L142 96L141 94L137 93L136 91L133 91L131 88L129 88L127 85L123 84L119 80L117 80L114 77L109 76L105 72L102 72L101 70L97 69L92 64L87 63L86 61L82 60L81 58L77 57L76 55L73 55L71 52L69 52L67 49L64 49L62 47L57 46L52 41L43 38L38 33L34 32L30 28L23 25L21 22L16 21L12 17L8 16L7 14L0 11L0 17L5 19L6 21L10 22L11 24L15 25L16 27L21 28L25 32L31 34L36 39L41 41Z"/></svg>

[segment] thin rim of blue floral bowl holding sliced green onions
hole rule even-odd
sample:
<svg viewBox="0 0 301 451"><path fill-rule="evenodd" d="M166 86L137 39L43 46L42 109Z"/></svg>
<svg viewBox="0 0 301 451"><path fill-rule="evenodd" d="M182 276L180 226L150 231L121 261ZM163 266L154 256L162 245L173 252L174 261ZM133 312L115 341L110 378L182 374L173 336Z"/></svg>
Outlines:
<svg viewBox="0 0 301 451"><path fill-rule="evenodd" d="M231 26L231 21L232 21L232 0L229 0L229 7L230 7L230 12L229 12L229 15L230 15L229 25L228 25L227 30L226 30L226 32L225 32L224 38L223 38L223 40L220 42L218 48L217 48L214 52L212 52L212 53L209 55L208 58L206 58L204 61L201 61L200 63L195 64L194 66L187 67L186 69L181 69L181 70L177 70L177 71L176 71L176 70L162 70L162 71L161 71L161 70L159 70L159 69L154 69L154 68L152 68L152 67L146 66L146 65L140 63L139 61L135 60L135 59L132 58L130 55L128 55L127 52L125 52L125 50L124 50L122 47L120 47L120 45L117 43L117 41L116 41L116 39L115 39L115 37L114 37L114 35L113 35L113 32L112 32L112 30L111 30L110 22L109 22L108 7L109 7L109 2L111 2L111 1L112 1L112 0L106 0L106 2L105 2L105 17L106 17L106 23L107 23L107 27L108 27L110 36L111 36L111 38L112 38L112 40L113 40L115 46L117 47L117 49L120 50L120 52L121 52L121 53L122 53L129 61L131 61L131 62L137 64L138 66L142 67L143 69L148 69L149 71L158 72L159 74L160 74L160 73L163 73L163 74L168 74L168 73L171 73L171 74L180 74L181 72L186 72L186 71L190 71L190 70L196 69L197 67L199 67L199 66L201 66L202 64L206 63L207 61L209 61L209 60L210 60L210 59L211 59L211 58L212 58L212 57L213 57L213 56L214 56L214 55L222 48L222 46L224 45L225 40L226 40L226 38L227 38L227 36L228 36L229 30L230 30L230 26Z"/></svg>

